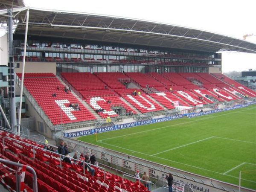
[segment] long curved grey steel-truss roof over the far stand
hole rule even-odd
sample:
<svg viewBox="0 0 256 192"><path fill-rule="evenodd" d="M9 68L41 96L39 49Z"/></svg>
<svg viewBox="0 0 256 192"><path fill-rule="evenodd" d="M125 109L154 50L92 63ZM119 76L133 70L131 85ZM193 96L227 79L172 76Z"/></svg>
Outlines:
<svg viewBox="0 0 256 192"><path fill-rule="evenodd" d="M256 53L254 43L199 29L125 17L29 7L13 9L16 12L16 15L13 15L18 21L15 34L25 34L27 9L29 9L28 34L33 36L204 52L225 50ZM2 10L1 16L5 12L6 10ZM1 17L0 24L3 25L5 22L6 18Z"/></svg>

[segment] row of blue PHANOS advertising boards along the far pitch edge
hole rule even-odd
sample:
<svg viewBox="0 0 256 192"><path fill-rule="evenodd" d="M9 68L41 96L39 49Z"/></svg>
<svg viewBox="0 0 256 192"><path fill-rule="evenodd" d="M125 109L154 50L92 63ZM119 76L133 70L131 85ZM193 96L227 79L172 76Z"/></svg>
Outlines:
<svg viewBox="0 0 256 192"><path fill-rule="evenodd" d="M256 102L250 102L242 105L236 105L234 107L229 107L229 108L223 108L223 109L216 109L212 111L204 111L204 112L199 112L199 113L189 113L187 114L187 118L192 118L192 117L197 117L197 116L203 116L203 115L208 115L212 113L218 113L221 111L229 111L233 109L238 109L238 108L244 108L249 105L256 104ZM102 127L102 128L95 128L95 129L89 129L89 130L84 130L84 131L76 131L76 132L71 132L71 133L64 133L64 137L81 137L81 136L86 136L86 135L91 135L91 134L96 134L96 133L103 133L106 131L113 131L113 130L119 130L119 129L124 129L124 128L130 128L130 127L136 127L140 125L147 125L151 123L157 123L157 122L163 122L163 121L170 121L173 119L180 119L182 118L183 115L174 115L174 116L166 116L158 119L150 119L150 120L145 120L145 121L139 121L139 122L130 122L130 123L125 123L125 124L120 124L120 125L113 125L113 126L108 126L108 127Z"/></svg>

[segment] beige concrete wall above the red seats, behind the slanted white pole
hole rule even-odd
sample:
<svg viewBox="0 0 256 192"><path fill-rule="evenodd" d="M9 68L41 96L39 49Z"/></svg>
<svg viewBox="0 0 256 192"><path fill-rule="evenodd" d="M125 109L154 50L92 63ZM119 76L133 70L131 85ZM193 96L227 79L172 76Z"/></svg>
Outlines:
<svg viewBox="0 0 256 192"><path fill-rule="evenodd" d="M16 68L16 73L22 73L22 62L20 68ZM56 75L56 63L54 62L26 62L25 73L53 73Z"/></svg>

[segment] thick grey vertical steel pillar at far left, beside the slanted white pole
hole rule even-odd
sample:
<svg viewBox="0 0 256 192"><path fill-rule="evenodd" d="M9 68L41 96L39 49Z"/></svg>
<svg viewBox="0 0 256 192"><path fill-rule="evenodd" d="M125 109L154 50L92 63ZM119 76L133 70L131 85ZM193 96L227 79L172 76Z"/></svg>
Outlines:
<svg viewBox="0 0 256 192"><path fill-rule="evenodd" d="M12 16L12 9L8 9L8 15ZM9 47L9 62L13 62L13 35L12 35L12 17L8 17L8 47ZM13 79L12 79L13 78ZM10 99L10 115L12 131L17 131L17 118L16 118L16 102L15 102L15 77L10 75L10 84L14 81L14 90L9 90Z"/></svg>

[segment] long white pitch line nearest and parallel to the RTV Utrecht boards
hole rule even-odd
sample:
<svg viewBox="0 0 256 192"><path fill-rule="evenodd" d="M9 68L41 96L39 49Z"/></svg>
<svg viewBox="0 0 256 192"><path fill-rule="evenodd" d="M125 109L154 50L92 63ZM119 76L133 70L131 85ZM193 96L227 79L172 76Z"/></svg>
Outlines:
<svg viewBox="0 0 256 192"><path fill-rule="evenodd" d="M101 143L104 143L104 142L101 142ZM189 165L189 164L186 164L186 163L180 163L180 162L173 161L173 160L169 160L169 159L165 159L165 158L162 158L162 157L152 156L152 155L145 154L145 153L142 153L142 152L139 152L139 151L130 150L130 149L127 149L127 148L119 147L119 146L116 146L116 145L111 145L111 144L108 144L108 143L104 143L104 144L110 145L110 146L113 146L113 147L117 147L117 148L122 148L122 149L125 149L125 150L127 150L127 151L132 151L133 153L140 153L140 154L147 155L147 156L149 156L149 157L154 157L154 158L157 158L157 159L162 159L162 160L170 161L170 162L173 162L173 163L178 163L178 164L181 164L181 165L193 167L193 168L196 168L196 169L201 169L201 170L204 170L204 171L208 171L208 172L213 172L213 173L217 173L217 174L220 174L220 175L224 175L223 173L220 173L220 172L215 172L215 171L212 171L212 170L209 170L209 169L204 169L204 168L201 168L201 167L192 166L192 165ZM233 176L233 175L225 175L225 176L233 177L233 178L239 179L239 177L235 177L235 176ZM253 181L253 180L247 180L247 179L243 179L243 178L241 178L241 180L246 180L246 181L249 181L249 182L252 182L252 183L256 183L256 181Z"/></svg>

